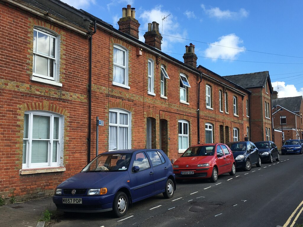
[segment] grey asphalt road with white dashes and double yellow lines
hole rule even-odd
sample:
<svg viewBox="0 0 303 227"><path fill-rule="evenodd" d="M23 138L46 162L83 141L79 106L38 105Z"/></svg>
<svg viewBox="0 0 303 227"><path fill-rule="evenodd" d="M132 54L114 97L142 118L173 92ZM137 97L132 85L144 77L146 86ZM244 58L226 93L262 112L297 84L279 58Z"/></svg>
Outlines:
<svg viewBox="0 0 303 227"><path fill-rule="evenodd" d="M303 155L285 155L279 162L254 165L249 172L221 175L216 183L207 179L179 183L172 199L160 194L134 203L119 219L110 212L58 212L58 222L51 226L295 227L303 224L302 176Z"/></svg>

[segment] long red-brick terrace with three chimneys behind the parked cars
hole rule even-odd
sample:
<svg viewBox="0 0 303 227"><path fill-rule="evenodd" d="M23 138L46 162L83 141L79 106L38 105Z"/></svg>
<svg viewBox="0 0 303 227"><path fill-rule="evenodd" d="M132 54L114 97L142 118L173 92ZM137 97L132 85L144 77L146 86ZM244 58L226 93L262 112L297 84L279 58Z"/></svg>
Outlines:
<svg viewBox="0 0 303 227"><path fill-rule="evenodd" d="M0 11L2 199L52 194L108 150L175 160L197 143L271 133L268 72L259 87L238 84L197 67L193 44L178 61L161 52L157 22L138 40L130 5L119 29L57 0L0 0Z"/></svg>

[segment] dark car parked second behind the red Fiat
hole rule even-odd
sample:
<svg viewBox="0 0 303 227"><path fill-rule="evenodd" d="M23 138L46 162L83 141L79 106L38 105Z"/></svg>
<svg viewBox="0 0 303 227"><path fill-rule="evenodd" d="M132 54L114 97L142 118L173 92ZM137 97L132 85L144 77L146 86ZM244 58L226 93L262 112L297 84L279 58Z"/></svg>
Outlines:
<svg viewBox="0 0 303 227"><path fill-rule="evenodd" d="M259 149L262 162L272 163L274 159L280 160L278 148L273 141L258 141L255 145Z"/></svg>

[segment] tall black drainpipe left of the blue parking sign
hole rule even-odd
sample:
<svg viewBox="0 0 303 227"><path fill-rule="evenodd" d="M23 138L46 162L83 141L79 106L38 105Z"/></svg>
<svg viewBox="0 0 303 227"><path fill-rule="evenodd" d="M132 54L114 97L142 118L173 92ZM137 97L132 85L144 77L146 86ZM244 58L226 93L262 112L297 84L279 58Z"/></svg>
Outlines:
<svg viewBox="0 0 303 227"><path fill-rule="evenodd" d="M89 37L89 82L88 82L88 151L87 163L91 161L91 139L92 139L92 42L93 35L97 31L97 21L95 20L94 32Z"/></svg>

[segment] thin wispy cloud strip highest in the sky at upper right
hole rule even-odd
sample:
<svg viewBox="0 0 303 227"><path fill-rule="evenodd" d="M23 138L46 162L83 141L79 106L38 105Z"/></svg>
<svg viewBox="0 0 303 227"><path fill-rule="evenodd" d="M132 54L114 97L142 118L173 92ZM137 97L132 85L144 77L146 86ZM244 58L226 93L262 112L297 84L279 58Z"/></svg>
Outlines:
<svg viewBox="0 0 303 227"><path fill-rule="evenodd" d="M206 14L210 17L215 17L218 19L237 19L240 17L247 17L248 12L241 8L238 12L231 12L230 10L221 10L219 7L212 7L210 9L206 9L205 5L201 5L201 8L204 10Z"/></svg>

